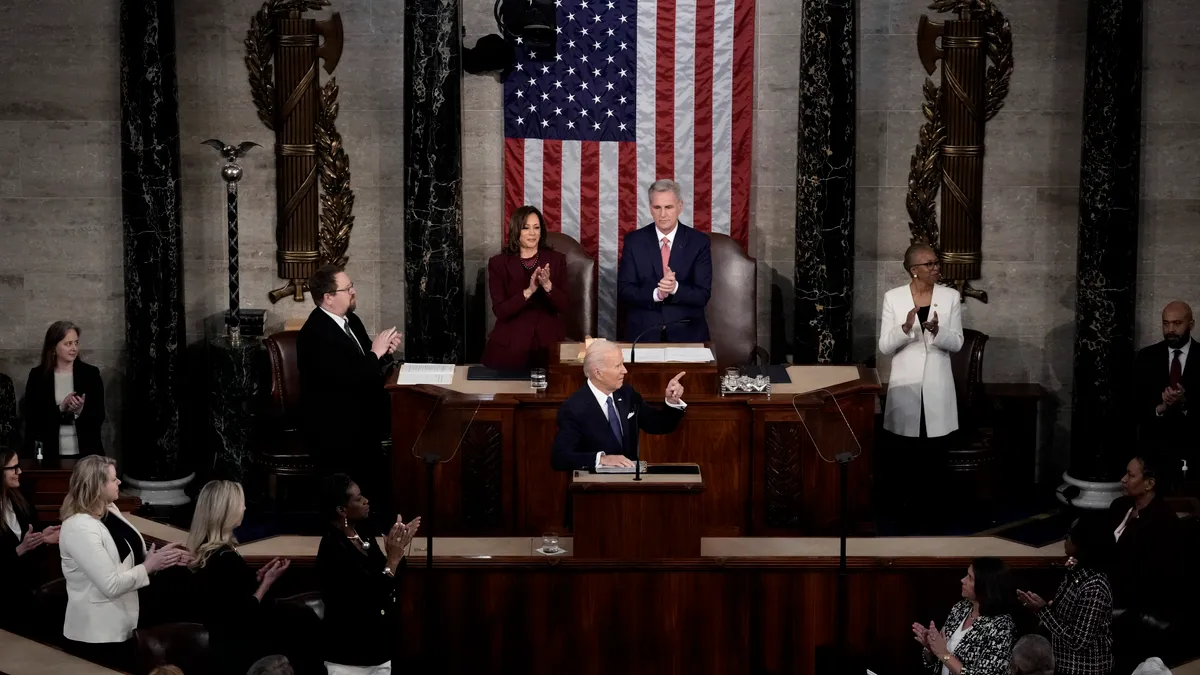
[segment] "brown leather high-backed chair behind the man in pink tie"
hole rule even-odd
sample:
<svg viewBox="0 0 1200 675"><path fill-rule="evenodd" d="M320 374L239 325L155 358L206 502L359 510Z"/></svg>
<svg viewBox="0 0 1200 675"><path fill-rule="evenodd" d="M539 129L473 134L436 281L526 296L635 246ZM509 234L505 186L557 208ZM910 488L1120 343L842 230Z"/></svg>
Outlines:
<svg viewBox="0 0 1200 675"><path fill-rule="evenodd" d="M758 347L758 273L754 258L727 234L710 233L713 292L704 309L716 363L721 368L766 358ZM762 365L767 365L763 363Z"/></svg>

